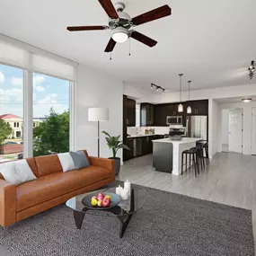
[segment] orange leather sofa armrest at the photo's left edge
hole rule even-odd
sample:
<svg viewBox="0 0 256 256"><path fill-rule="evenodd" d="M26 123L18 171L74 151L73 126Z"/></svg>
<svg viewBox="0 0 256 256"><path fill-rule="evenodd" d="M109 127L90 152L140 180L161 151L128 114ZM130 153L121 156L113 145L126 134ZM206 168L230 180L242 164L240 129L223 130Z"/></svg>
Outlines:
<svg viewBox="0 0 256 256"><path fill-rule="evenodd" d="M0 225L16 222L16 187L0 179Z"/></svg>

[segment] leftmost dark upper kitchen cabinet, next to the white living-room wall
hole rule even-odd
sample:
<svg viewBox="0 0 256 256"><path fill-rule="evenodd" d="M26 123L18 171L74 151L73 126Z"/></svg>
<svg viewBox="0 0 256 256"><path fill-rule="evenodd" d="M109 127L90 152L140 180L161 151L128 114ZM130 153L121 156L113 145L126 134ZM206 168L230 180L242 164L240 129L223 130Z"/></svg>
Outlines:
<svg viewBox="0 0 256 256"><path fill-rule="evenodd" d="M123 119L124 127L136 126L136 101L123 97Z"/></svg>

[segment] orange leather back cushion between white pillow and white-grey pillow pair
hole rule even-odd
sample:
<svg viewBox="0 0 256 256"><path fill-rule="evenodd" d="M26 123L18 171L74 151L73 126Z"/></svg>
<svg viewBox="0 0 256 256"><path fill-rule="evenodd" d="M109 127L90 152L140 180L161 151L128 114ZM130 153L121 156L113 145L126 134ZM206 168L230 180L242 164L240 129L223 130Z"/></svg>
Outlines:
<svg viewBox="0 0 256 256"><path fill-rule="evenodd" d="M38 167L38 176L42 177L51 173L62 172L62 166L58 160L57 154L50 154L35 157Z"/></svg>

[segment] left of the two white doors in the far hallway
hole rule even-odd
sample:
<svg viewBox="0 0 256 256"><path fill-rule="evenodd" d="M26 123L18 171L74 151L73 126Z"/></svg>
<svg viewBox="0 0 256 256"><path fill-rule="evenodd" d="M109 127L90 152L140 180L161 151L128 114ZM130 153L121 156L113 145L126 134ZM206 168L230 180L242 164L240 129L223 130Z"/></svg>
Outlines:
<svg viewBox="0 0 256 256"><path fill-rule="evenodd" d="M229 151L242 153L243 110L229 111Z"/></svg>

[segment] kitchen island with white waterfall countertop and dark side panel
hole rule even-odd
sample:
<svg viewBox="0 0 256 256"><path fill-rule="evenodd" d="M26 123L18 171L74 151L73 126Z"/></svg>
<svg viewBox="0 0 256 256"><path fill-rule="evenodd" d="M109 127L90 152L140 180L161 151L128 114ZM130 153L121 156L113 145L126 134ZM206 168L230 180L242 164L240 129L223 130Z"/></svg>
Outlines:
<svg viewBox="0 0 256 256"><path fill-rule="evenodd" d="M181 140L168 138L153 140L153 166L155 171L181 175L181 154L196 146L200 138L183 137Z"/></svg>

